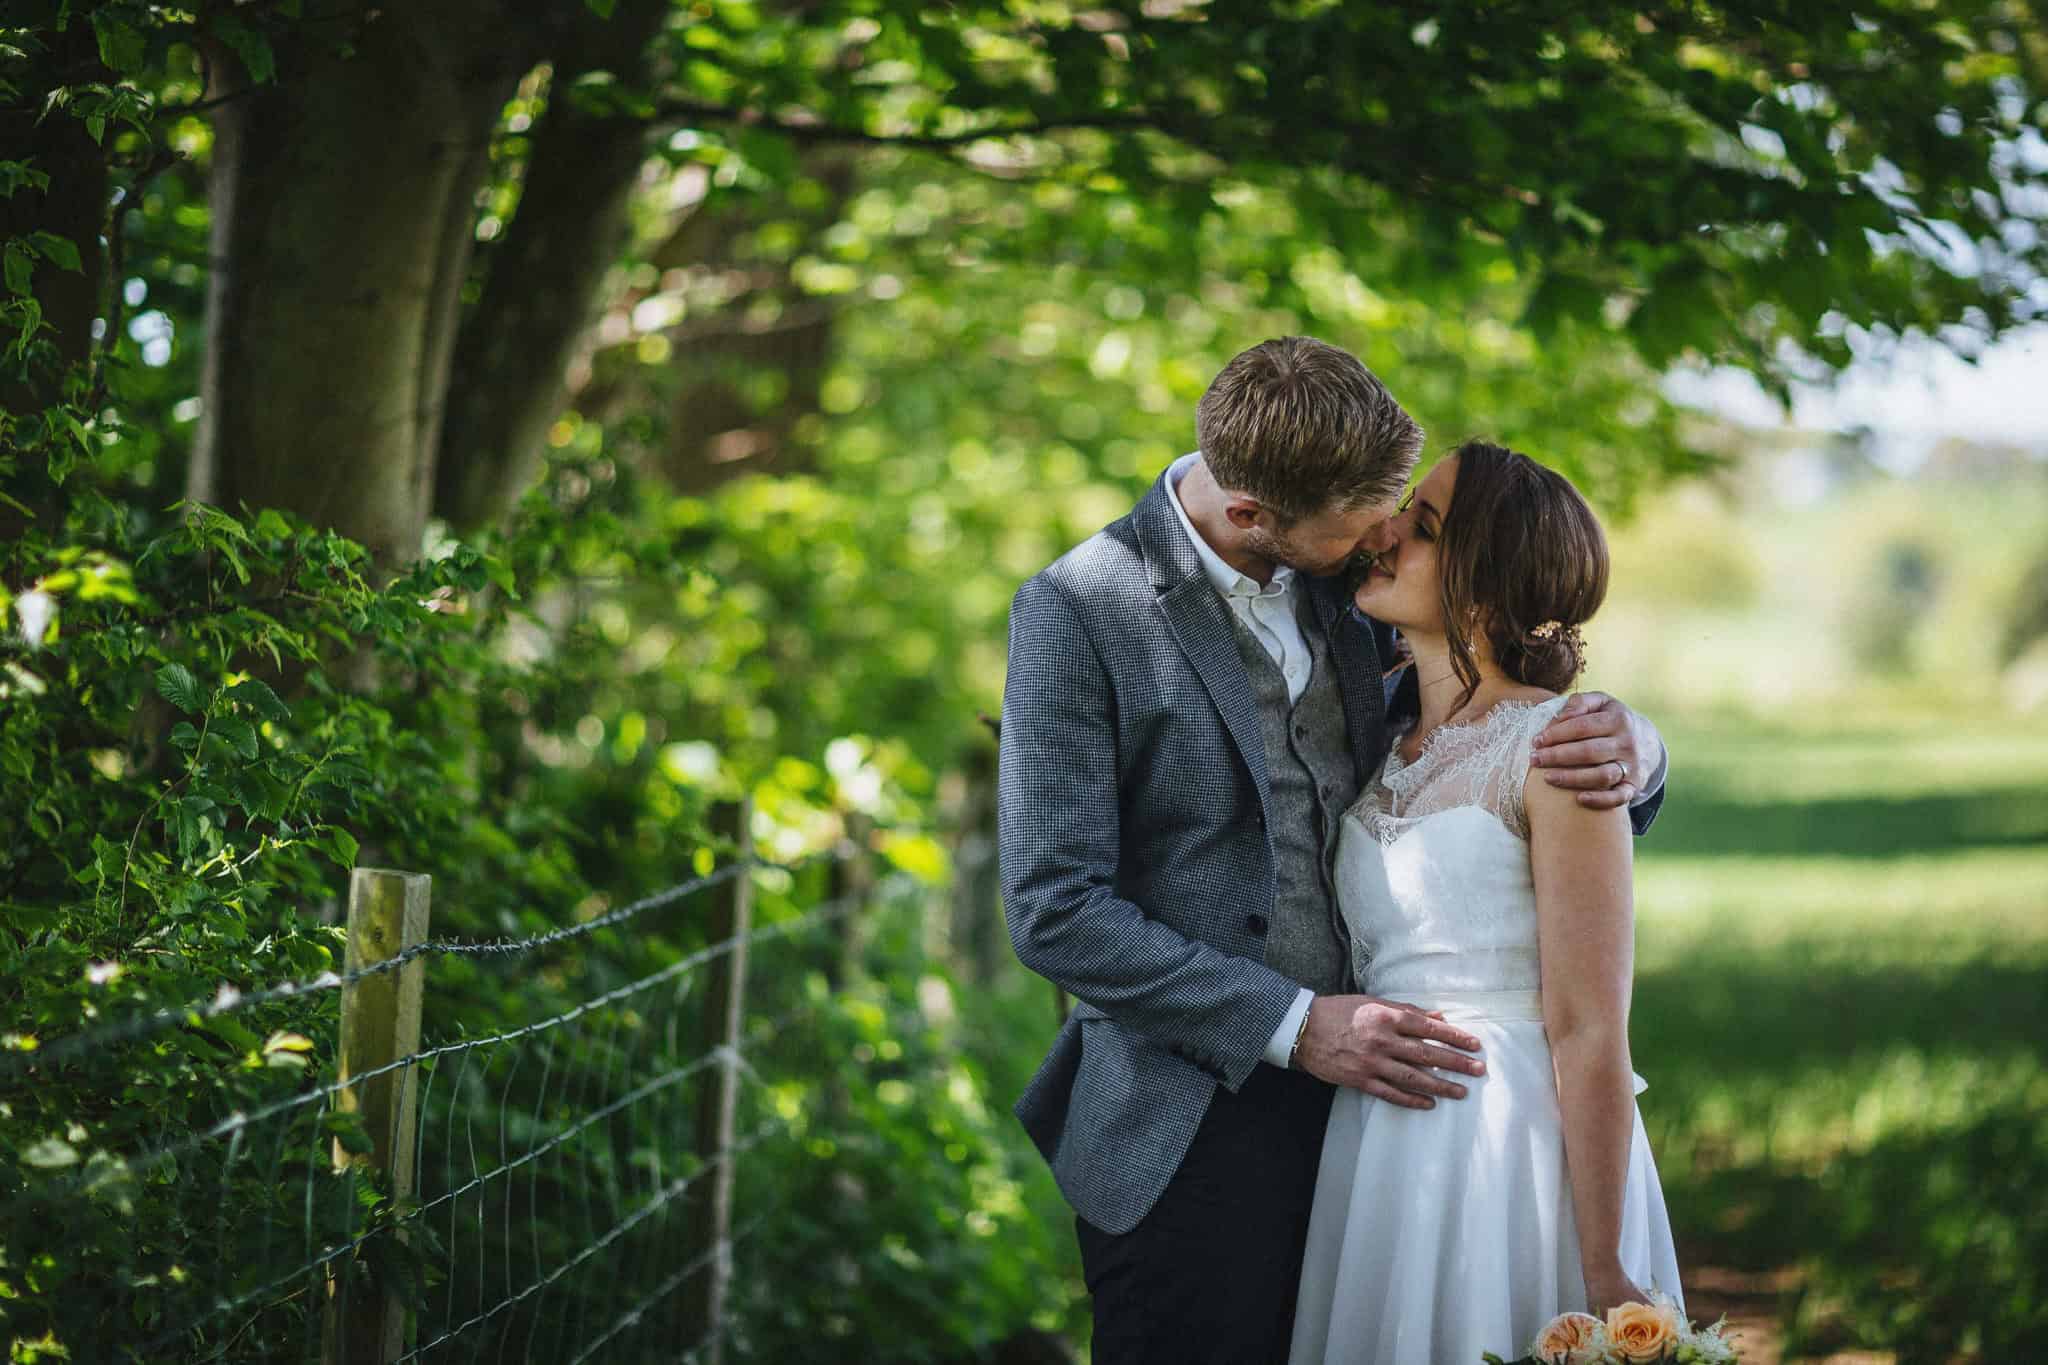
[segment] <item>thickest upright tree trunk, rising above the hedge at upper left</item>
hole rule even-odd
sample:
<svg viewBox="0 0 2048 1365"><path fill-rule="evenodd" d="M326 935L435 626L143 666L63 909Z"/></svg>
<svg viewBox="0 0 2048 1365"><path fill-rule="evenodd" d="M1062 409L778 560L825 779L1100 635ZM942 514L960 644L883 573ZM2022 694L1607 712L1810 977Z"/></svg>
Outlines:
<svg viewBox="0 0 2048 1365"><path fill-rule="evenodd" d="M215 115L205 399L188 493L420 553L487 143L530 29L494 0L295 29ZM248 84L209 51L219 88Z"/></svg>

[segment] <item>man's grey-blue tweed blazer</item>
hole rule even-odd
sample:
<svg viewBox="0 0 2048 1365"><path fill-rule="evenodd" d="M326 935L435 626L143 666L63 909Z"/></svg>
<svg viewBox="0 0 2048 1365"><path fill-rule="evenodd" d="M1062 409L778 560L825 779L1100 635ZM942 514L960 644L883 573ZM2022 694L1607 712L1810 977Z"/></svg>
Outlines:
<svg viewBox="0 0 2048 1365"><path fill-rule="evenodd" d="M1360 786L1386 755L1393 630L1303 577ZM1300 986L1264 964L1266 745L1229 606L1167 501L1057 559L1010 608L997 857L1010 941L1077 1001L1016 1115L1096 1228L1139 1224L1217 1087L1237 1091ZM1636 808L1638 831L1657 800Z"/></svg>

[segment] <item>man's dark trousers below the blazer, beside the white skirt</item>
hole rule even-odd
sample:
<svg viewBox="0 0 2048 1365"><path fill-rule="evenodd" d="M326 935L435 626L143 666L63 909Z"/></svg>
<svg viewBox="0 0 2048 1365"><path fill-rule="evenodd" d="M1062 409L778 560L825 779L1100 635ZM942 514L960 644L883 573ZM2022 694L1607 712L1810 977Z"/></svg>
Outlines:
<svg viewBox="0 0 2048 1365"><path fill-rule="evenodd" d="M1257 1066L1208 1105L1188 1156L1137 1228L1075 1218L1096 1308L1096 1365L1284 1363L1315 1169L1335 1089Z"/></svg>

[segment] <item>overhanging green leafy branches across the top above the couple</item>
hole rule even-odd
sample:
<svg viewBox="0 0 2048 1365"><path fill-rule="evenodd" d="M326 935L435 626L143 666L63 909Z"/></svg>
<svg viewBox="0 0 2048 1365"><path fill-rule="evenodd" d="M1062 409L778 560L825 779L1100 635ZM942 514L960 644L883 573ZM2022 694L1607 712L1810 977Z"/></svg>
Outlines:
<svg viewBox="0 0 2048 1365"><path fill-rule="evenodd" d="M2042 266L2038 203L1985 192L2044 170L2021 153L2040 33L2009 4L713 6L670 43L686 106L799 106L827 133L788 121L797 143L967 143L1139 239L1186 248L1231 180L1288 184L1331 219L1305 246L1413 244L1421 268L1374 287L1505 262L1540 284L1509 317L1653 368L1694 352L1782 381L1798 354L1845 362L1858 327L1980 340L2036 309L2011 287ZM1069 133L975 143L1010 129ZM731 145L776 178L758 137Z"/></svg>

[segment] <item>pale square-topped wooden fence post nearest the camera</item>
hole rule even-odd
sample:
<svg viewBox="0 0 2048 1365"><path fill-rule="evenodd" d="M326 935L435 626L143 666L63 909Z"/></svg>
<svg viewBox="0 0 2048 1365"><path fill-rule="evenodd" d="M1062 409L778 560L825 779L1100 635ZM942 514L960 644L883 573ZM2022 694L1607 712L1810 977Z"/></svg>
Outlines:
<svg viewBox="0 0 2048 1365"><path fill-rule="evenodd" d="M426 941L428 894L434 878L420 872L356 868L348 878L348 972L387 962ZM334 1144L336 1171L362 1164L383 1171L395 1199L414 1191L414 1136L420 1121L418 1068L399 1066L348 1085L379 1066L420 1050L420 997L426 962L414 958L395 972L379 972L342 986L342 1056L336 1093L342 1111L362 1115L371 1150L348 1154ZM406 1230L395 1232L403 1236ZM328 1275L328 1302L319 1332L322 1365L389 1365L406 1351L406 1304L395 1289L350 1291Z"/></svg>

